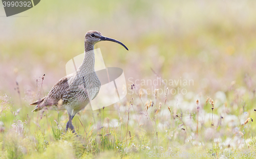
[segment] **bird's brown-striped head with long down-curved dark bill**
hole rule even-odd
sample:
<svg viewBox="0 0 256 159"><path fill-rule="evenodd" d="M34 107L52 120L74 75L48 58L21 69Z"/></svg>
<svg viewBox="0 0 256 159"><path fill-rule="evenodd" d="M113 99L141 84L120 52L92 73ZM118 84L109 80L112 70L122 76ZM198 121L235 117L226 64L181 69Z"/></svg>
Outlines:
<svg viewBox="0 0 256 159"><path fill-rule="evenodd" d="M116 43L122 45L126 50L128 50L128 48L123 43L121 43L120 41L117 41L115 39L111 39L111 38L108 38L108 37L104 37L98 31L89 31L89 32L86 33L86 37L84 39L85 43L90 43L90 44L94 45L99 41L113 41L113 42L116 42Z"/></svg>

